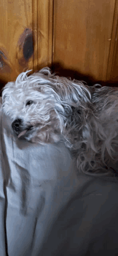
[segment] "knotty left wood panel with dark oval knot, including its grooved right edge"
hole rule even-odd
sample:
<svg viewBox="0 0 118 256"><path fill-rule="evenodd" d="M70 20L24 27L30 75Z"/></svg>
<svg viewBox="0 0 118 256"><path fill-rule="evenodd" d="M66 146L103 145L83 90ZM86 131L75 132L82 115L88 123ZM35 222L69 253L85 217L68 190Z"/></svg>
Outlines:
<svg viewBox="0 0 118 256"><path fill-rule="evenodd" d="M26 69L50 65L52 0L0 0L0 79L15 80Z"/></svg>

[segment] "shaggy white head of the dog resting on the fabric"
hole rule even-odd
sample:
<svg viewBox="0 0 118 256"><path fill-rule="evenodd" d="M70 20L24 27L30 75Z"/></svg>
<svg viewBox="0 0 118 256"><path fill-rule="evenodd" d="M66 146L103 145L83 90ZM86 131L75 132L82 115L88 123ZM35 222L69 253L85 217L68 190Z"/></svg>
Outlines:
<svg viewBox="0 0 118 256"><path fill-rule="evenodd" d="M30 76L27 73L6 84L2 109L11 117L18 138L42 144L58 141L72 122L73 109L84 110L90 103L90 91L82 82L52 75L49 68Z"/></svg>

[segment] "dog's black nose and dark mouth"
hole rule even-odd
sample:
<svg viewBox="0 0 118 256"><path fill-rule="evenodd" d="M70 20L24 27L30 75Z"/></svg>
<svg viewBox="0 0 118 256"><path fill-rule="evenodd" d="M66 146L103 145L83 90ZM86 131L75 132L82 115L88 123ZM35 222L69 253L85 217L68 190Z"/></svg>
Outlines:
<svg viewBox="0 0 118 256"><path fill-rule="evenodd" d="M14 132L18 135L18 137L24 135L27 131L31 130L33 127L32 125L29 125L24 129L21 119L14 120L11 126Z"/></svg>

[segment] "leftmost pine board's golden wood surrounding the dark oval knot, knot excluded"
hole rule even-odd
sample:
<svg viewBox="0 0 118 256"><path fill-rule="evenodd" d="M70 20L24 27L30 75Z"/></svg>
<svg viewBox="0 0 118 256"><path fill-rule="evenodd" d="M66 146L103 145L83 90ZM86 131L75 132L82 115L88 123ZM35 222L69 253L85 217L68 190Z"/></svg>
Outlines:
<svg viewBox="0 0 118 256"><path fill-rule="evenodd" d="M25 61L22 47L24 31L29 29L32 33L32 1L1 0L0 23L0 51L6 57L3 57L4 67L0 69L0 78L11 81L25 67L32 68L32 57Z"/></svg>

